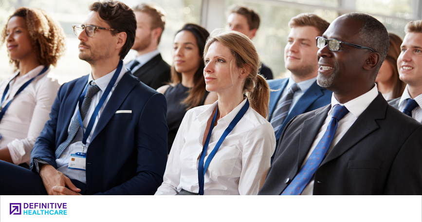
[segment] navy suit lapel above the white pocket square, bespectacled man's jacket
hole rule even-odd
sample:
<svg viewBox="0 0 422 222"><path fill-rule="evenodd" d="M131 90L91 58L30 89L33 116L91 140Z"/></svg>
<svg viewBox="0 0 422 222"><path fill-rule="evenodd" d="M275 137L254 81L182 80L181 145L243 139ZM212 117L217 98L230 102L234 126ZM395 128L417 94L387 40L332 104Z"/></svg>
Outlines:
<svg viewBox="0 0 422 222"><path fill-rule="evenodd" d="M130 71L123 75L113 93L111 94L110 99L104 108L104 111L101 113L100 119L98 120L98 123L92 134L91 142L95 139L98 133L104 129L104 127L110 121L111 117L119 109L120 105L122 105L123 101L125 101L125 98L137 83L139 83L139 80L133 78Z"/></svg>

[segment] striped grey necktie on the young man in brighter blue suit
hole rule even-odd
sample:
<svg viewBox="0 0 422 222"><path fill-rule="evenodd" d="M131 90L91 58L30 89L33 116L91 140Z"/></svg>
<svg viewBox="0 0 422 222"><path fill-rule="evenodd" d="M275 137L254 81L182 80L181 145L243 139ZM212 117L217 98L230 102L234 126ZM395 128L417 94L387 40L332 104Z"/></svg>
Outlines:
<svg viewBox="0 0 422 222"><path fill-rule="evenodd" d="M292 105L293 101L293 95L294 92L300 90L300 88L297 86L296 83L294 83L290 88L287 95L280 99L277 103L277 108L275 109L273 113L273 117L271 118L271 125L274 128L275 134L277 134L277 131L280 129L281 125L284 122L284 119L286 119L287 114L289 114L290 105Z"/></svg>

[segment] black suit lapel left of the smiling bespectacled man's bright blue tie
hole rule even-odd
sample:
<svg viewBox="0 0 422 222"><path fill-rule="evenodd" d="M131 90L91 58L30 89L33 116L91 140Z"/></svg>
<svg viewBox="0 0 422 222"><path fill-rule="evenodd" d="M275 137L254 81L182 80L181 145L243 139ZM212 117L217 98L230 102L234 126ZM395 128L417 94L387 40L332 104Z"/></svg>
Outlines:
<svg viewBox="0 0 422 222"><path fill-rule="evenodd" d="M321 129L321 126L324 124L324 121L327 118L328 111L330 111L330 109L331 104L315 112L315 115L313 117L303 122L302 131L300 132L299 155L297 156L297 170L299 170L299 167L305 160L305 157L308 154L309 149L311 148L312 143L319 132L319 129Z"/></svg>

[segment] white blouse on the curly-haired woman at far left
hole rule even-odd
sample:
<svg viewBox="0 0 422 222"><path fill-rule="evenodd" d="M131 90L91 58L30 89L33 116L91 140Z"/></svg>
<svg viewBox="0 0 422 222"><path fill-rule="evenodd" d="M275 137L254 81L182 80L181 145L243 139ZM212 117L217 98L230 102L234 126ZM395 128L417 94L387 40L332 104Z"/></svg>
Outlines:
<svg viewBox="0 0 422 222"><path fill-rule="evenodd" d="M0 99L4 89L10 82L9 91L4 98L1 108L13 99L19 88L28 80L37 76L44 66L38 66L29 73L13 79L17 74L4 80L0 84ZM0 148L9 148L14 164L27 163L29 165L31 150L45 122L50 119L51 106L60 87L57 80L47 77L50 69L35 78L10 103L9 108L0 122Z"/></svg>

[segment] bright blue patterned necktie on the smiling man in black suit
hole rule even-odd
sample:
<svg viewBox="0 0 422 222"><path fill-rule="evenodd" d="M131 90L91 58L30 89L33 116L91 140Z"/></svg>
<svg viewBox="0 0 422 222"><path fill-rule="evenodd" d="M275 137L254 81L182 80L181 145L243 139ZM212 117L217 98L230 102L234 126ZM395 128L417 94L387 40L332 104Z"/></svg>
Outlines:
<svg viewBox="0 0 422 222"><path fill-rule="evenodd" d="M281 195L300 195L305 189L306 185L311 181L313 174L318 169L318 166L324 160L324 157L330 148L332 139L337 129L338 121L340 121L349 111L344 106L335 105L332 111L332 117L327 130L322 136L321 140L313 149L311 156L306 161L305 165L300 169L294 177L290 185L288 185Z"/></svg>

